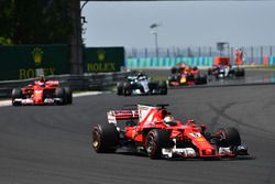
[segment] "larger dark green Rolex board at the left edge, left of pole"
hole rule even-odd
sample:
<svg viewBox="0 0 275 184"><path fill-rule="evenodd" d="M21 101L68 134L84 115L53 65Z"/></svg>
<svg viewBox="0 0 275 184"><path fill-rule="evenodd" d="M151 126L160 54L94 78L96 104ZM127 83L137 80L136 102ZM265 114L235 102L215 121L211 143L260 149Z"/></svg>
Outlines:
<svg viewBox="0 0 275 184"><path fill-rule="evenodd" d="M25 79L44 75L69 74L67 45L0 46L0 80Z"/></svg>

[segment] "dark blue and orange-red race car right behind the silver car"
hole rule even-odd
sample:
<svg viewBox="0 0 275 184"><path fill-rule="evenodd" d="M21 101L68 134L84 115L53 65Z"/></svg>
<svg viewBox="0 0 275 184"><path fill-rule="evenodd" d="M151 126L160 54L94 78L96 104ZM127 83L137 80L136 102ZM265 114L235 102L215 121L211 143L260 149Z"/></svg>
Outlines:
<svg viewBox="0 0 275 184"><path fill-rule="evenodd" d="M190 67L182 64L172 68L172 75L168 76L169 86L189 86L207 84L207 75L201 75L198 67Z"/></svg>

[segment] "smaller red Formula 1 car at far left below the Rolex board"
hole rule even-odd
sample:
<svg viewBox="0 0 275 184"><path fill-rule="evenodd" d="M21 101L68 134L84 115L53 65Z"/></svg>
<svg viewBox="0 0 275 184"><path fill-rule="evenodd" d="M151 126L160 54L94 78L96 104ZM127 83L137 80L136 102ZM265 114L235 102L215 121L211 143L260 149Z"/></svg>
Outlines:
<svg viewBox="0 0 275 184"><path fill-rule="evenodd" d="M68 87L59 87L58 80L38 79L23 88L13 88L12 105L67 105L73 102Z"/></svg>

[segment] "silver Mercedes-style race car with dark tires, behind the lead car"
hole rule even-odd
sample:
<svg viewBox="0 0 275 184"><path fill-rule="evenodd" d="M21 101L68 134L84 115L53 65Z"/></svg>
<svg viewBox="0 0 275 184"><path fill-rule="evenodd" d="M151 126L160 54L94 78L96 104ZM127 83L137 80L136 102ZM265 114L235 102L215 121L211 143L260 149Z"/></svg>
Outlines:
<svg viewBox="0 0 275 184"><path fill-rule="evenodd" d="M118 95L167 95L166 82L151 80L146 75L128 76L127 82L119 82L117 85Z"/></svg>

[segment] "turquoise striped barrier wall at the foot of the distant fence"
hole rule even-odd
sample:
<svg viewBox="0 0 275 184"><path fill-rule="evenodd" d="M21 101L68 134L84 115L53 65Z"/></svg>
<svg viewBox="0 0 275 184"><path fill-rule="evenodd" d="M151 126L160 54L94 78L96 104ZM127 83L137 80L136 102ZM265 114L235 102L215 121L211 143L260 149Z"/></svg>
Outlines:
<svg viewBox="0 0 275 184"><path fill-rule="evenodd" d="M144 68L144 67L173 67L178 63L186 63L190 66L212 66L213 57L140 57L127 58L125 67Z"/></svg>

